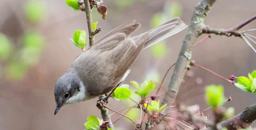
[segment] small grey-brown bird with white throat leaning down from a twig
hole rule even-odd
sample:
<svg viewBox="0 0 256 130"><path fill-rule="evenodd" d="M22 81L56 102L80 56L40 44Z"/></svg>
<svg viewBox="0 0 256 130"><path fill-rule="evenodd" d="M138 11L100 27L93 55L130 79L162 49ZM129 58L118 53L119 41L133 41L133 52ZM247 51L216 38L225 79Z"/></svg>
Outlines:
<svg viewBox="0 0 256 130"><path fill-rule="evenodd" d="M136 21L121 25L100 38L82 52L69 70L56 83L56 109L109 93L129 74L139 53L150 45L184 30L187 25L180 18L137 36L131 33L140 28Z"/></svg>

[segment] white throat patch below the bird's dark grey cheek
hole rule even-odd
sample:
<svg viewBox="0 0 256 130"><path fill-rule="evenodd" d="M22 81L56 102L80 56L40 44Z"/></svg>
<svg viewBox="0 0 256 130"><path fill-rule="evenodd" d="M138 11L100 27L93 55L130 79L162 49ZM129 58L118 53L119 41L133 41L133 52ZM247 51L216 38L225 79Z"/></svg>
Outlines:
<svg viewBox="0 0 256 130"><path fill-rule="evenodd" d="M80 88L79 88L80 91L77 92L76 95L67 99L65 104L72 104L72 103L76 103L76 102L86 100L85 86L84 86L83 82L80 82L79 85L80 85Z"/></svg>

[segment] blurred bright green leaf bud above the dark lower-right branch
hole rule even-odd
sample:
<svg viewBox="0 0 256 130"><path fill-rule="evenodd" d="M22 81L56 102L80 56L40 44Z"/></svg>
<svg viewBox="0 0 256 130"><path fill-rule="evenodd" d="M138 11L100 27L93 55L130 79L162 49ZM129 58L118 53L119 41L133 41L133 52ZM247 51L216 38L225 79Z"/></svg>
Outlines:
<svg viewBox="0 0 256 130"><path fill-rule="evenodd" d="M216 108L223 104L224 94L221 85L210 85L206 87L206 100L209 105Z"/></svg>

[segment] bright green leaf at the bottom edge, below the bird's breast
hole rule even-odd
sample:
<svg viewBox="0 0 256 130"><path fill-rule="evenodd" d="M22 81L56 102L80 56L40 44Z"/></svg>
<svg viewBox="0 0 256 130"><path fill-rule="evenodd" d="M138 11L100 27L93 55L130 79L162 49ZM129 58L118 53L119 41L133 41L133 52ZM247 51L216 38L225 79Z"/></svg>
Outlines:
<svg viewBox="0 0 256 130"><path fill-rule="evenodd" d="M96 116L91 115L87 117L87 122L84 123L84 126L87 129L98 130L100 127L100 121Z"/></svg>

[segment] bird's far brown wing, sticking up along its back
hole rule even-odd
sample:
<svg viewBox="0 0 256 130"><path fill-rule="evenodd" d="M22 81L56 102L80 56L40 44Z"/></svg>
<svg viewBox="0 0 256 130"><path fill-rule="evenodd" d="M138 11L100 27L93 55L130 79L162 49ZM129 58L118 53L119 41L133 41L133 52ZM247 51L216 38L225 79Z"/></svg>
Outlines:
<svg viewBox="0 0 256 130"><path fill-rule="evenodd" d="M105 39L107 39L108 37L112 37L113 35L117 34L117 33L125 33L127 36L130 35L132 32L138 30L140 28L140 24L136 23L135 20L123 24L117 28L115 28L114 30L108 32L106 35L102 36L99 40L97 40L95 42L95 44L98 44L99 42L104 42Z"/></svg>

